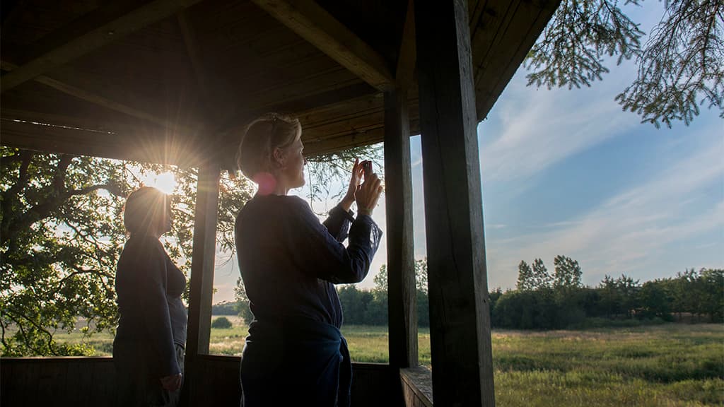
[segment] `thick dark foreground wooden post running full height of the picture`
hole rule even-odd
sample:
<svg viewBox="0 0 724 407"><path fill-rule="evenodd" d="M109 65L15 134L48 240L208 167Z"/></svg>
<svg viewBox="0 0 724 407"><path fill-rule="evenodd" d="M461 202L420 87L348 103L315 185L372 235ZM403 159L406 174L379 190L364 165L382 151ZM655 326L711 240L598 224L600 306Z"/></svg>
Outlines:
<svg viewBox="0 0 724 407"><path fill-rule="evenodd" d="M436 407L495 404L467 9L415 4Z"/></svg>

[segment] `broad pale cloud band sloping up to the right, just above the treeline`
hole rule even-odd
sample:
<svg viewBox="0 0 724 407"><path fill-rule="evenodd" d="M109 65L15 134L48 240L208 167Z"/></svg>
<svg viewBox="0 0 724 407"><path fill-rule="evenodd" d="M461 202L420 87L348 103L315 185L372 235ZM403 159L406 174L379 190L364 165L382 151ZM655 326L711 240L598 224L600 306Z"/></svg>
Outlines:
<svg viewBox="0 0 724 407"><path fill-rule="evenodd" d="M724 143L711 141L581 217L547 225L544 232L489 241L490 285L513 287L518 261L541 257L550 263L557 254L581 261L590 284L603 274L648 280L644 270L657 264L668 245L686 246L696 235L724 230Z"/></svg>

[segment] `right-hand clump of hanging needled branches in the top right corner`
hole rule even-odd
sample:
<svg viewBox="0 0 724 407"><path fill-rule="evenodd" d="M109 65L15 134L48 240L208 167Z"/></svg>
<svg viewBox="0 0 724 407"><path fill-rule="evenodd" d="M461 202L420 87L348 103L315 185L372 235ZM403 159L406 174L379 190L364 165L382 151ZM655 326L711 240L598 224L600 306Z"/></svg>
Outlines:
<svg viewBox="0 0 724 407"><path fill-rule="evenodd" d="M699 104L724 118L724 4L670 0L666 11L638 56L636 80L616 100L656 127L689 125Z"/></svg>

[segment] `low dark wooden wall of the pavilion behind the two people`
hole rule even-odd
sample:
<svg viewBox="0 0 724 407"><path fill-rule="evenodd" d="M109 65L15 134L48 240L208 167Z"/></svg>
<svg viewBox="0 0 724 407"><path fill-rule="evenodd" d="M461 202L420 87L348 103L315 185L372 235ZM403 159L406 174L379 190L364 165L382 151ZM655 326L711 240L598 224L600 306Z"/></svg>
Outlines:
<svg viewBox="0 0 724 407"><path fill-rule="evenodd" d="M201 356L199 406L238 406L240 358ZM112 358L0 358L0 406L114 406ZM397 388L395 388L397 384ZM386 364L353 364L352 406L403 406Z"/></svg>

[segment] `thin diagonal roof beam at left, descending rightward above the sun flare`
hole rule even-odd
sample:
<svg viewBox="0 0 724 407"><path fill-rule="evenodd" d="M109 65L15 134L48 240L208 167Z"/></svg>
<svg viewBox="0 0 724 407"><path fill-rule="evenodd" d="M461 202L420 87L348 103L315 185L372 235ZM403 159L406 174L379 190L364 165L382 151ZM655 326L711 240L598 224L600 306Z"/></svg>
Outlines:
<svg viewBox="0 0 724 407"><path fill-rule="evenodd" d="M3 70L14 72L14 70L17 69L17 65L13 64L12 62L2 61L1 66ZM3 77L4 80L4 77ZM112 100L111 98L106 98L105 96L98 95L97 93L93 93L90 91L86 91L83 88L79 88L75 85L70 85L70 83L65 83L61 80L53 79L52 77L48 77L45 75L40 75L37 77L34 77L33 80L38 83L42 83L43 85L49 86L50 88L54 88L56 91L61 91L62 93L66 93L70 96L75 96L76 98L82 99L84 101L88 101L92 104L96 104L98 106L105 107L106 109L111 109L115 112L120 112L123 114L127 114L132 117L136 117L138 119L144 119L148 122L155 123L156 125L161 125L168 130L172 130L174 132L182 132L186 135L192 136L195 133L197 133L199 130L201 130L201 125L199 125L198 129L193 129L191 127L185 127L183 125L178 125L177 123L169 122L167 119L161 119L160 117L156 117L153 114L150 114L148 112L145 112L140 109L135 109L132 106L128 106L126 104L119 103L117 101Z"/></svg>

